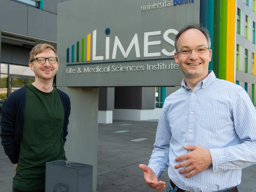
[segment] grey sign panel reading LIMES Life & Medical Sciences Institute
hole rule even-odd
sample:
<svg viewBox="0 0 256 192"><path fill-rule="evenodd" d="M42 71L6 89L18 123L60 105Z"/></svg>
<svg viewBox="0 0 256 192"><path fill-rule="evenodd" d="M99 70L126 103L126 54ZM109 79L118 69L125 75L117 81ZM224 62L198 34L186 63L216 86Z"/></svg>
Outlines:
<svg viewBox="0 0 256 192"><path fill-rule="evenodd" d="M199 22L199 0L59 4L57 85L180 85L173 45L189 22Z"/></svg>

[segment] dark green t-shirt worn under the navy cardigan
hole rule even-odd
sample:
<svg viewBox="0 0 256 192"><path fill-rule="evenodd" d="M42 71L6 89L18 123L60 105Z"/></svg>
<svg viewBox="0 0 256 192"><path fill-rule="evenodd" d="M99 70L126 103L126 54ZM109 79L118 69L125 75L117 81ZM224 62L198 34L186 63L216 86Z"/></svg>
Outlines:
<svg viewBox="0 0 256 192"><path fill-rule="evenodd" d="M45 163L67 160L63 147L64 109L59 92L45 93L26 85L24 128L13 187L22 191L45 188Z"/></svg>

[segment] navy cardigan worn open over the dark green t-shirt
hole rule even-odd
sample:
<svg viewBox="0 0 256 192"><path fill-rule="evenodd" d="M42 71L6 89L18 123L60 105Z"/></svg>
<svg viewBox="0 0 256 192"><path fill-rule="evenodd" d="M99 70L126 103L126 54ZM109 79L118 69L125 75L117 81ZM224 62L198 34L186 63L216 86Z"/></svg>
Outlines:
<svg viewBox="0 0 256 192"><path fill-rule="evenodd" d="M68 135L68 117L70 115L70 99L58 89L64 108L63 143ZM22 138L24 111L26 105L26 87L12 92L4 101L1 110L1 139L4 152L13 164L18 163L20 142Z"/></svg>

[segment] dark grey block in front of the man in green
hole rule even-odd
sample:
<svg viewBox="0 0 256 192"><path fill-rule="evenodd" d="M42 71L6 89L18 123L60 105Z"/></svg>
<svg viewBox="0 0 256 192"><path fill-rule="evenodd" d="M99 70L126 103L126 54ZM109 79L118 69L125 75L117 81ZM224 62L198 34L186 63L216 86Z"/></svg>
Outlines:
<svg viewBox="0 0 256 192"><path fill-rule="evenodd" d="M92 192L92 165L64 160L47 162L45 192Z"/></svg>

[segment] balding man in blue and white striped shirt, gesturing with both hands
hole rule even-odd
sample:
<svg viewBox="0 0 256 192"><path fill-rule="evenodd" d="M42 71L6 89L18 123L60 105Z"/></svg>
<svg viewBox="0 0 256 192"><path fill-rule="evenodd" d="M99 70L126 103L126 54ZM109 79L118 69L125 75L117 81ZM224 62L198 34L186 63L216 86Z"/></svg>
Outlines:
<svg viewBox="0 0 256 192"><path fill-rule="evenodd" d="M206 28L188 24L175 39L182 87L164 101L148 166L148 186L168 167L171 192L236 192L242 168L256 163L256 110L239 85L208 71L212 58Z"/></svg>

